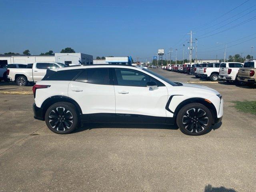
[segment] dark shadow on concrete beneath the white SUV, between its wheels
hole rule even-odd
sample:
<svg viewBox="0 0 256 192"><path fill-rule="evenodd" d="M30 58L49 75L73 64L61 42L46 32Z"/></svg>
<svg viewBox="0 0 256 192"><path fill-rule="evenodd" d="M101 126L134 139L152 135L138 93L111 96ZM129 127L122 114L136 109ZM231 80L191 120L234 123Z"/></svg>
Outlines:
<svg viewBox="0 0 256 192"><path fill-rule="evenodd" d="M135 123L84 123L72 133L95 128L139 128L139 129L170 129L178 130L178 126L169 124L135 124Z"/></svg>

